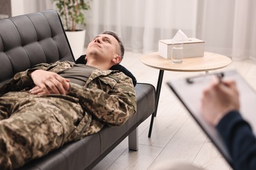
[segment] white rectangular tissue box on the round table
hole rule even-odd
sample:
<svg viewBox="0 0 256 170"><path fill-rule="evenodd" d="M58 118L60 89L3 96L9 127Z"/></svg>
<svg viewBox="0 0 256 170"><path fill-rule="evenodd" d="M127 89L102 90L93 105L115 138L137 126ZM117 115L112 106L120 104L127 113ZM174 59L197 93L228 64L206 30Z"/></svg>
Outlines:
<svg viewBox="0 0 256 170"><path fill-rule="evenodd" d="M158 41L158 53L161 57L171 59L172 39ZM188 38L183 41L183 58L203 57L204 41L195 38Z"/></svg>

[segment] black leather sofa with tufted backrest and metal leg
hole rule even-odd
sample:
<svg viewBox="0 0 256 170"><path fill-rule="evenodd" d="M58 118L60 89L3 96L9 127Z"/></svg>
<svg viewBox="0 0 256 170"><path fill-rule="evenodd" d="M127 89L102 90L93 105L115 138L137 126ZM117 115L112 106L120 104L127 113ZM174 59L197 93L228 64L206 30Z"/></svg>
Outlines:
<svg viewBox="0 0 256 170"><path fill-rule="evenodd" d="M0 20L0 86L37 63L74 61L70 44L54 10ZM137 83L137 113L123 126L104 127L99 133L65 144L20 169L92 169L129 136L129 148L138 150L137 127L154 112L155 88Z"/></svg>

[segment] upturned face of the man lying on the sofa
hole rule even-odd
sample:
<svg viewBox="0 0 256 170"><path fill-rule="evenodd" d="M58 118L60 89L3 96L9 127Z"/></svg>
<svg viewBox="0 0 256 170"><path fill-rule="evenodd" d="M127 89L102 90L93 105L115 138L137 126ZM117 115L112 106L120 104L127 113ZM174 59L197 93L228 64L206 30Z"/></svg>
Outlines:
<svg viewBox="0 0 256 170"><path fill-rule="evenodd" d="M96 59L101 63L110 63L117 54L118 41L112 35L100 34L91 41L87 47L88 59Z"/></svg>

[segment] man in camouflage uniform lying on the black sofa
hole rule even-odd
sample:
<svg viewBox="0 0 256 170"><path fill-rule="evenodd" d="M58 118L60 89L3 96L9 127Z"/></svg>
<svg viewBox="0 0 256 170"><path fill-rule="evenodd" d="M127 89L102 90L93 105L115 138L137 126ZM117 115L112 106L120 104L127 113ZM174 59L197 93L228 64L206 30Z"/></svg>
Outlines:
<svg viewBox="0 0 256 170"><path fill-rule="evenodd" d="M2 86L0 169L20 167L104 124L122 125L135 114L131 78L109 70L123 54L118 35L104 31L89 43L86 65L42 63Z"/></svg>

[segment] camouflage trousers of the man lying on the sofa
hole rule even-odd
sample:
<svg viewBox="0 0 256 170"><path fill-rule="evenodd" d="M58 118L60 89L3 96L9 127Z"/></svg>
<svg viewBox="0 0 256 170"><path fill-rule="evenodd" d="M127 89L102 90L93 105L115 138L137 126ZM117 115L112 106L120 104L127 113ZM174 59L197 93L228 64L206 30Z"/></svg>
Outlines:
<svg viewBox="0 0 256 170"><path fill-rule="evenodd" d="M3 95L0 97L0 169L15 169L79 139L90 122L91 116L74 97L28 92Z"/></svg>

